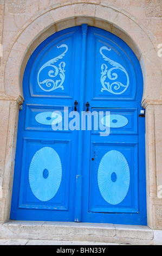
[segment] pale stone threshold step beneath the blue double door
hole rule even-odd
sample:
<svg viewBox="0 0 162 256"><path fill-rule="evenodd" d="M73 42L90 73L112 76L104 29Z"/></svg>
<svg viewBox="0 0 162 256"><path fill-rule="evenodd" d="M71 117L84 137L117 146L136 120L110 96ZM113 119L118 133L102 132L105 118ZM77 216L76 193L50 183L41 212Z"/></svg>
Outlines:
<svg viewBox="0 0 162 256"><path fill-rule="evenodd" d="M161 236L162 231L160 231ZM1 239L78 241L154 245L147 226L102 223L8 221L0 223Z"/></svg>

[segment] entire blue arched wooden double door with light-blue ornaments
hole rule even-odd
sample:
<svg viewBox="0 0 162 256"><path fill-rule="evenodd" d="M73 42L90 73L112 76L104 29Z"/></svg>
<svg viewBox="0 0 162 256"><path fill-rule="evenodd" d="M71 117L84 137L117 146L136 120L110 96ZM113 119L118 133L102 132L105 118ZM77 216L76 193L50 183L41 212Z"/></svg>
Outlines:
<svg viewBox="0 0 162 256"><path fill-rule="evenodd" d="M86 25L58 32L29 59L23 91L11 219L146 225L143 80L131 48Z"/></svg>

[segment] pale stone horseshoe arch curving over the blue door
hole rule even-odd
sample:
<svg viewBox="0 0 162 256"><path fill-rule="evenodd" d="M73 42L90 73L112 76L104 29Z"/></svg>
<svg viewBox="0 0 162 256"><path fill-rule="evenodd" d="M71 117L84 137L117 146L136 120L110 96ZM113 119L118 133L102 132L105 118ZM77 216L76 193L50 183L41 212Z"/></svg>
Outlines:
<svg viewBox="0 0 162 256"><path fill-rule="evenodd" d="M31 53L51 34L82 23L106 29L124 40L141 64L144 76L144 106L147 102L160 99L161 68L154 46L154 36L127 11L110 4L92 3L51 6L22 27L10 44L5 65L5 93L23 98L23 72Z"/></svg>

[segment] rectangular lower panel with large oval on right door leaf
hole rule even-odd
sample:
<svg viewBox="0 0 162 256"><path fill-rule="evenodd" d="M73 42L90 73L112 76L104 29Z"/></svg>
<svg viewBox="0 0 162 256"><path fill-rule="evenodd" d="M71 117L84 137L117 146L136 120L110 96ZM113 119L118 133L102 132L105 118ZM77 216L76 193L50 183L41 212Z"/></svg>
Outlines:
<svg viewBox="0 0 162 256"><path fill-rule="evenodd" d="M137 213L138 145L94 142L92 153L89 212Z"/></svg>

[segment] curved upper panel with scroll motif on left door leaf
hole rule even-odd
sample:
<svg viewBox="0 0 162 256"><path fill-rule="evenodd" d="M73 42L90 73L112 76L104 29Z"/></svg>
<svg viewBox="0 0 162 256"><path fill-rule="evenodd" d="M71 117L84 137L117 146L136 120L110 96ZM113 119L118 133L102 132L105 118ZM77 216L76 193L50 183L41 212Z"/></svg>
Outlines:
<svg viewBox="0 0 162 256"><path fill-rule="evenodd" d="M31 96L72 99L75 54L79 57L75 37L73 31L58 35L39 52L30 74Z"/></svg>

